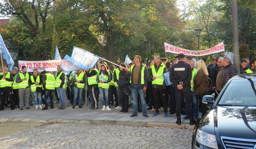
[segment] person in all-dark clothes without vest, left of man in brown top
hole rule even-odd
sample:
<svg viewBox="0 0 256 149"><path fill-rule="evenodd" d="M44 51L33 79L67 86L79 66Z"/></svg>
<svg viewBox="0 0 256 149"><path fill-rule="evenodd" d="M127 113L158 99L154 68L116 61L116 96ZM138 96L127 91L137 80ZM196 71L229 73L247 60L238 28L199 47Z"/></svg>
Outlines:
<svg viewBox="0 0 256 149"><path fill-rule="evenodd" d="M126 67L125 64L121 63L120 64L122 67ZM130 81L130 74L127 72L125 69L122 67L119 67L120 72L119 72L119 79L118 79L118 98L119 101L121 102L122 105L122 110L120 112L128 112L128 107L129 107L129 95L131 94L130 86L129 86L129 81Z"/></svg>

